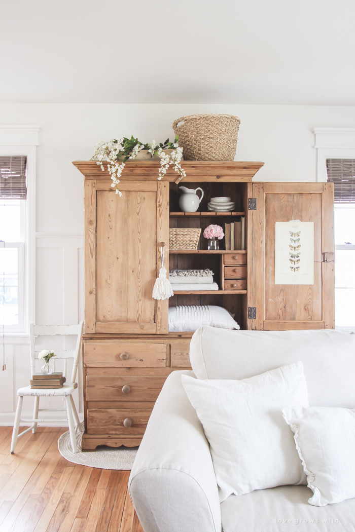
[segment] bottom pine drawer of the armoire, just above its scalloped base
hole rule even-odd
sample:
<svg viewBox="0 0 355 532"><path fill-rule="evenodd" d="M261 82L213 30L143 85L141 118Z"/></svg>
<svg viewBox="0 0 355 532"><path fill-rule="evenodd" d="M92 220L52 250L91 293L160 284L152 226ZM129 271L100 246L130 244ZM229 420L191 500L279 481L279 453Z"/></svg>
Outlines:
<svg viewBox="0 0 355 532"><path fill-rule="evenodd" d="M151 413L145 409L89 409L87 434L144 434ZM130 426L125 426L125 420Z"/></svg>

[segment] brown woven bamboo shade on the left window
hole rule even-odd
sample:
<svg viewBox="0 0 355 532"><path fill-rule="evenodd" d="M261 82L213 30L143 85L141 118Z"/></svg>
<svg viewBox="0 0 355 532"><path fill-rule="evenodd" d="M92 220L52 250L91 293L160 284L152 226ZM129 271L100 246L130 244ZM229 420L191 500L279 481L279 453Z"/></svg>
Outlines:
<svg viewBox="0 0 355 532"><path fill-rule="evenodd" d="M0 198L26 200L26 159L24 155L0 156Z"/></svg>

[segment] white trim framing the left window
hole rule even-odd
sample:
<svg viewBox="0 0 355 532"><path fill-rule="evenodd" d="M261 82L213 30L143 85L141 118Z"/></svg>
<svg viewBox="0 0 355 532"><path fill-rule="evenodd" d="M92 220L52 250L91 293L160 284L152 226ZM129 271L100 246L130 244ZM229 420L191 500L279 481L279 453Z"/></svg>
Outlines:
<svg viewBox="0 0 355 532"><path fill-rule="evenodd" d="M36 146L39 126L0 126L0 155L27 157L26 235L24 243L24 327L18 334L29 334L29 323L36 316ZM5 336L17 336L9 332Z"/></svg>

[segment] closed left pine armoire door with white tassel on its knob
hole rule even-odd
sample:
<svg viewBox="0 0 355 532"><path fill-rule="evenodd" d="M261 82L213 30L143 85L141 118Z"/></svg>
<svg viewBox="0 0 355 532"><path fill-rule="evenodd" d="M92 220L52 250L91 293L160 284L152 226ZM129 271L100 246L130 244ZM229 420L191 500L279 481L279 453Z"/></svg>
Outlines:
<svg viewBox="0 0 355 532"><path fill-rule="evenodd" d="M86 332L166 334L168 300L156 302L160 242L169 264L169 184L85 182Z"/></svg>

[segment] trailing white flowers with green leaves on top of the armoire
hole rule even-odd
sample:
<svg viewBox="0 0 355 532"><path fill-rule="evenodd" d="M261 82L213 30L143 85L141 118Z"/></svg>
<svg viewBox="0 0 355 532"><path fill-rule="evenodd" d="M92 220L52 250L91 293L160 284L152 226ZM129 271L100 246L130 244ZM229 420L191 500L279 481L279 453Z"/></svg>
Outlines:
<svg viewBox="0 0 355 532"><path fill-rule="evenodd" d="M181 168L180 162L183 160L183 148L178 145L178 136L175 137L175 142L165 142L156 144L155 140L143 144L138 138L123 137L123 139L116 140L101 140L95 146L95 152L90 159L97 161L96 164L101 166L104 171L104 162L108 162L108 171L112 179L112 188L115 188L115 193L122 197L122 193L118 187L123 168L129 160L160 160L160 168L158 169L158 179L162 179L170 165L179 174L180 179L186 177L185 170ZM145 153L144 153L145 152Z"/></svg>

